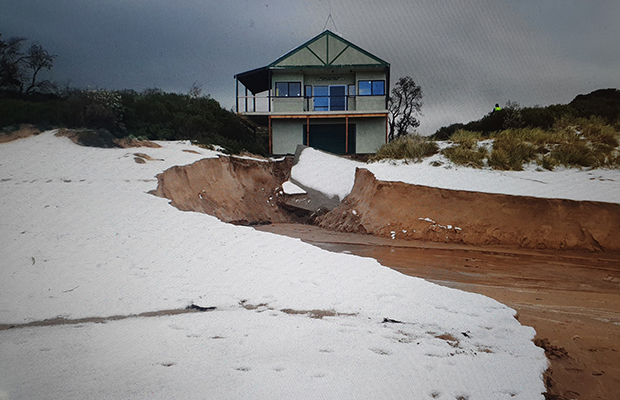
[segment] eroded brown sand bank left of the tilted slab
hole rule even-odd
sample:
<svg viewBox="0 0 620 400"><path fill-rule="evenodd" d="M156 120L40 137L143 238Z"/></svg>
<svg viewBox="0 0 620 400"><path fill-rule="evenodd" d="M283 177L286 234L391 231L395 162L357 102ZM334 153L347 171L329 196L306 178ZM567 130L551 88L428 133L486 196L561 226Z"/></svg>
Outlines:
<svg viewBox="0 0 620 400"><path fill-rule="evenodd" d="M290 162L225 156L202 159L157 175L157 189L151 193L172 200L180 210L207 213L234 224L294 222L294 216L280 205Z"/></svg>

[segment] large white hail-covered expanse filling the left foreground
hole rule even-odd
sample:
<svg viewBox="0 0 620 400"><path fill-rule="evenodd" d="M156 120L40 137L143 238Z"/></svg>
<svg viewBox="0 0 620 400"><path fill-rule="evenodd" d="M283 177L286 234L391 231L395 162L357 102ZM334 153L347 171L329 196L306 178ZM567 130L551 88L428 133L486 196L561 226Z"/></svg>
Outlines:
<svg viewBox="0 0 620 400"><path fill-rule="evenodd" d="M179 211L156 174L217 154L160 144L0 145L0 399L543 399L512 309Z"/></svg>

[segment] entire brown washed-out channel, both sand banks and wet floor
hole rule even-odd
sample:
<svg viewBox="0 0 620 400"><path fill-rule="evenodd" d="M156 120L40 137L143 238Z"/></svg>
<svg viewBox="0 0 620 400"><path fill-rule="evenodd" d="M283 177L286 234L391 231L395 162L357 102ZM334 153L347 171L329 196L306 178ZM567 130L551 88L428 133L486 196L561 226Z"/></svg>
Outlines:
<svg viewBox="0 0 620 400"><path fill-rule="evenodd" d="M152 193L495 298L536 329L548 399L620 393L620 205L381 182L360 169L347 198L313 213L282 190L291 167L290 158L203 159L160 174Z"/></svg>

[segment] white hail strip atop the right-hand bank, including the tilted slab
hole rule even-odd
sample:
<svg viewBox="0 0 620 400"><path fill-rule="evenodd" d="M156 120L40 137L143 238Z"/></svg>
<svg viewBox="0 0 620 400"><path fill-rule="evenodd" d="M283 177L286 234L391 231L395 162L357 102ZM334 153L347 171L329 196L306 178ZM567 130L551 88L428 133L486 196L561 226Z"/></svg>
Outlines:
<svg viewBox="0 0 620 400"><path fill-rule="evenodd" d="M446 147L447 142L439 142ZM353 188L355 169L365 168L377 179L472 192L620 203L620 170L558 167L548 171L535 163L523 171L497 171L456 166L441 154L414 163L361 163L306 148L291 178L330 196L345 198ZM329 176L329 179L325 179Z"/></svg>

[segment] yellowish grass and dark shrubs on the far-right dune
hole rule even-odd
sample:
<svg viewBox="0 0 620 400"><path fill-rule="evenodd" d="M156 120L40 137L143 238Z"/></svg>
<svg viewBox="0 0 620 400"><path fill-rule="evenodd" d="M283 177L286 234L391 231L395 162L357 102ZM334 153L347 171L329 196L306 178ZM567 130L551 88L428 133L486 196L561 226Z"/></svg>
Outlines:
<svg viewBox="0 0 620 400"><path fill-rule="evenodd" d="M514 171L532 162L548 170L618 168L620 91L597 90L546 108L509 102L478 121L443 127L432 138L454 142L442 154L457 165ZM480 143L487 139L489 149Z"/></svg>

